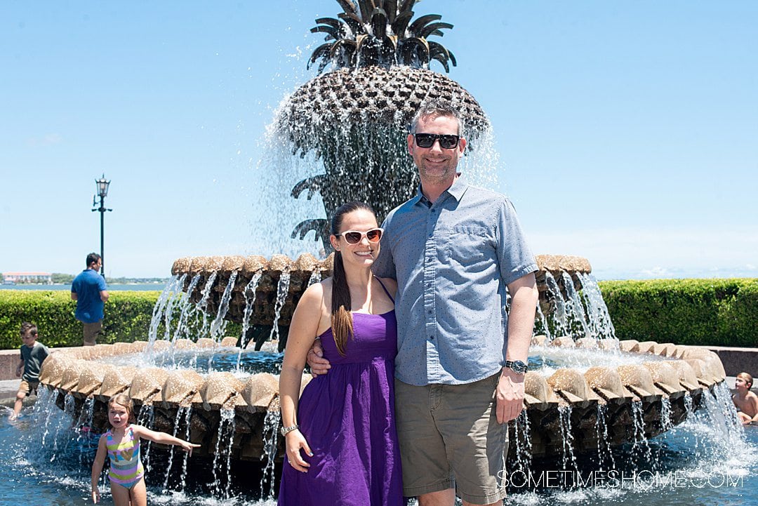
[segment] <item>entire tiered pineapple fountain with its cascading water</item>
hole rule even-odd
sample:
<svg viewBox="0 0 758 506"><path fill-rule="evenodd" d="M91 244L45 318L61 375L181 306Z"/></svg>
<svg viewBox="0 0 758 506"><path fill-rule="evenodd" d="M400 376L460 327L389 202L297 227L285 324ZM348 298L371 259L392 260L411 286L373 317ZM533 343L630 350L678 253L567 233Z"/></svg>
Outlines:
<svg viewBox="0 0 758 506"><path fill-rule="evenodd" d="M296 90L276 127L293 155L315 153L323 161L324 173L297 183L294 198L318 193L327 216L343 201L368 201L381 220L418 185L406 135L421 102L442 98L456 105L471 150L490 126L475 98L429 69L432 61L445 70L456 64L453 53L431 40L452 25L437 14L414 20L413 0L337 2L343 8L337 18L316 20L312 32L325 33L326 42L309 61L318 62L319 73L332 70ZM292 235L304 239L311 231L328 252L325 219L303 220ZM308 254L180 258L155 306L149 340L57 352L45 361L42 384L77 423L97 431L107 420L105 401L129 392L140 420L199 442L197 453L214 458L214 469L261 460L273 477L281 455L277 370L246 373L240 364L263 356L262 349L276 358L299 296L329 275L330 262L331 256ZM728 403L715 354L619 342L586 260L540 255L538 263L534 371L526 378L525 412L510 426L515 465L528 467L536 455L570 464L586 451L607 460L613 446L646 442L699 404ZM240 324L237 336L225 336L227 321ZM232 367L215 367L218 355Z"/></svg>

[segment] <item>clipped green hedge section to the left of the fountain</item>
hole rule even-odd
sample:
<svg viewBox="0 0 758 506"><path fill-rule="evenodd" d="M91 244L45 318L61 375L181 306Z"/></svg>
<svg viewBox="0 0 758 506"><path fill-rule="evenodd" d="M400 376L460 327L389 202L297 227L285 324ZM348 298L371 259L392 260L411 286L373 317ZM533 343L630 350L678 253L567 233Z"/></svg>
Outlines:
<svg viewBox="0 0 758 506"><path fill-rule="evenodd" d="M152 308L160 292L112 291L105 303L99 343L146 339ZM80 346L82 323L74 318L76 302L67 290L0 290L0 349L21 345L21 322L35 323L48 346Z"/></svg>

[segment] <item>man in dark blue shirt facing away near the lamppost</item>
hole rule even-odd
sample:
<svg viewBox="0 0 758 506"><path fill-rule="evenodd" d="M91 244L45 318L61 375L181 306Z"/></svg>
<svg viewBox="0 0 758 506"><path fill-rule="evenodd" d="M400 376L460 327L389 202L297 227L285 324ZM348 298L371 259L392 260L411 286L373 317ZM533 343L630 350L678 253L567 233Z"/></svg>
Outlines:
<svg viewBox="0 0 758 506"><path fill-rule="evenodd" d="M71 283L71 299L77 301L77 320L84 323L84 345L94 346L102 329L102 309L108 301L105 278L98 273L102 258L97 253L87 255L87 268Z"/></svg>

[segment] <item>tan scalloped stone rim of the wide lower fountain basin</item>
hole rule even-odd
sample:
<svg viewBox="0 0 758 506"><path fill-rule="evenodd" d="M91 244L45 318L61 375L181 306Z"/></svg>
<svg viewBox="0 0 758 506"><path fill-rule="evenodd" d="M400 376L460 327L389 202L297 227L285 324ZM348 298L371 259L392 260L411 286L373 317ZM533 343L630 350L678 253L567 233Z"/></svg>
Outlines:
<svg viewBox="0 0 758 506"><path fill-rule="evenodd" d="M176 348L214 348L235 346L237 339L179 339ZM535 345L545 345L544 336L532 339ZM553 339L551 346L618 349L640 354L659 355L666 361L647 361L643 364L618 367L590 367L585 373L569 367L560 368L549 378L528 372L525 379L525 407L540 410L559 405L581 405L591 402L625 402L662 397L678 398L686 392L700 392L725 379L719 355L714 351L672 343L637 342L615 339ZM245 382L231 373L210 373L201 376L194 370L164 370L159 367L115 366L98 362L99 358L144 351L147 342L119 342L114 345L67 348L50 355L42 365L40 382L79 398L94 397L107 401L112 395L127 392L141 404L196 406L206 411L236 408L245 411L266 411L278 397L277 377L258 373ZM171 346L156 341L156 351ZM303 376L303 387L309 375ZM278 404L278 403L275 403ZM278 407L277 407L278 409Z"/></svg>

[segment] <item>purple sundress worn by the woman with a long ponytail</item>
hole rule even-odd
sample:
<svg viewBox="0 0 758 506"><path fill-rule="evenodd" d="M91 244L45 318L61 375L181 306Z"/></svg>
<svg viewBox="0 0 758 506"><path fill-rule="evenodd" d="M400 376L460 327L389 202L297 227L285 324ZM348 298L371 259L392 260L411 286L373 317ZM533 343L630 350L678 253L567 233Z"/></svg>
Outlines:
<svg viewBox="0 0 758 506"><path fill-rule="evenodd" d="M395 429L395 311L353 313L355 339L343 357L331 329L321 334L331 369L305 386L298 424L313 457L307 473L284 458L283 506L402 506L400 450Z"/></svg>

